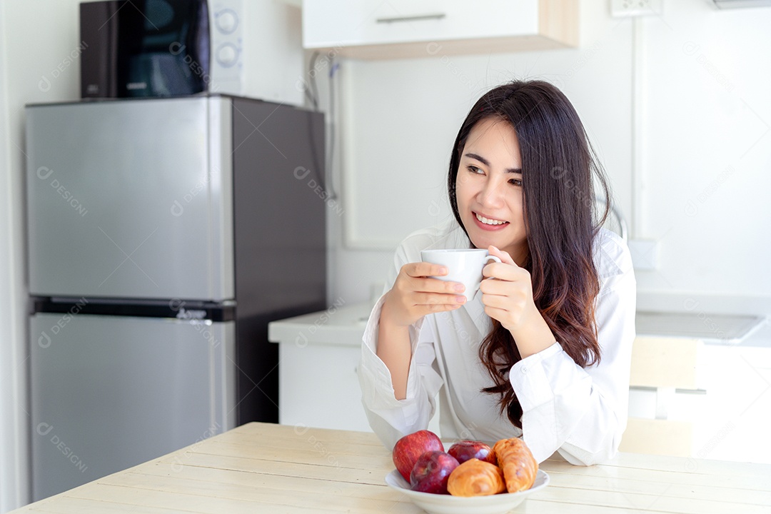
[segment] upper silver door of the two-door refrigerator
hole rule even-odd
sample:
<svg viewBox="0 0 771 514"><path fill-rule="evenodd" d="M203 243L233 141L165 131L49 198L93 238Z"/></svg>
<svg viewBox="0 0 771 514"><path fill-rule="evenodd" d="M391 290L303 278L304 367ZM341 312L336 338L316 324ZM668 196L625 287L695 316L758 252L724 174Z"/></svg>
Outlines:
<svg viewBox="0 0 771 514"><path fill-rule="evenodd" d="M229 99L26 114L31 294L234 297Z"/></svg>

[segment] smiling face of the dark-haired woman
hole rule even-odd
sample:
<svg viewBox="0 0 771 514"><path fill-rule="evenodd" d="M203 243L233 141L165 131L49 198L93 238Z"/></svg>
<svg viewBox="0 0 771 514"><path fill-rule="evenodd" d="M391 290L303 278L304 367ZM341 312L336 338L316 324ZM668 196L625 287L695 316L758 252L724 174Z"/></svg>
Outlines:
<svg viewBox="0 0 771 514"><path fill-rule="evenodd" d="M455 180L460 220L477 248L491 244L521 265L527 257L522 158L517 133L501 119L471 129Z"/></svg>

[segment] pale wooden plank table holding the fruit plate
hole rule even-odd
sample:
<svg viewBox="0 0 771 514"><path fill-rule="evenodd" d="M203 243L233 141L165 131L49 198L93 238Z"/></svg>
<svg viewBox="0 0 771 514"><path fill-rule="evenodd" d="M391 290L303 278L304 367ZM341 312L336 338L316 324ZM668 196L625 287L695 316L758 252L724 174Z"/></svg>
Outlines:
<svg viewBox="0 0 771 514"><path fill-rule="evenodd" d="M550 485L513 512L771 512L771 465L628 453L541 467ZM250 423L14 512L422 512L385 485L392 469L372 433Z"/></svg>

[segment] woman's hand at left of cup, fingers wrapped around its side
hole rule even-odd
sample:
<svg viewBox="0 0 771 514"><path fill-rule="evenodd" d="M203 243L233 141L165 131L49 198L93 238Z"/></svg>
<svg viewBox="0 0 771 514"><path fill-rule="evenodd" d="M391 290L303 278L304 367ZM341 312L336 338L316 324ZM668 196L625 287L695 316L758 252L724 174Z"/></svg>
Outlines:
<svg viewBox="0 0 771 514"><path fill-rule="evenodd" d="M412 262L402 266L391 291L385 294L381 322L407 327L426 314L453 311L463 305L463 284L431 278L446 274L446 267L438 264Z"/></svg>

